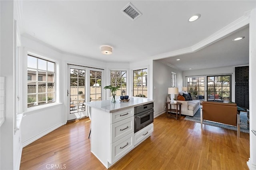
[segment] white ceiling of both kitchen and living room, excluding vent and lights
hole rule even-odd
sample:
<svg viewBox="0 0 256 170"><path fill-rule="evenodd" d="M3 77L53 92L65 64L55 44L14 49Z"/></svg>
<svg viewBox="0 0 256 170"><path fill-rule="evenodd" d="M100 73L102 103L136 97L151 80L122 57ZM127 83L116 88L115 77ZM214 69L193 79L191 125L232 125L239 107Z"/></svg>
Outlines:
<svg viewBox="0 0 256 170"><path fill-rule="evenodd" d="M121 10L129 1L21 1L21 33L66 53L108 62L161 59L180 70L249 63L248 26L186 55L157 57L192 47L256 8L256 1L130 1L142 16ZM193 14L201 14L188 22ZM245 36L238 42L236 36ZM111 55L101 45L113 47ZM176 61L180 58L180 61ZM189 67L187 66L189 63Z"/></svg>

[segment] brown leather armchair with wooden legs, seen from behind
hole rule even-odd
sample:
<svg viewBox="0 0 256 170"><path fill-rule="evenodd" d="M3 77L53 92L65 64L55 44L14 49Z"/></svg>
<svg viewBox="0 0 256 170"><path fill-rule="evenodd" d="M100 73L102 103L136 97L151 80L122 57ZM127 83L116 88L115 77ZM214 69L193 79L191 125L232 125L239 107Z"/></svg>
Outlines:
<svg viewBox="0 0 256 170"><path fill-rule="evenodd" d="M237 137L240 137L240 115L237 114L236 103L202 102L201 128L203 120L224 123L237 127Z"/></svg>

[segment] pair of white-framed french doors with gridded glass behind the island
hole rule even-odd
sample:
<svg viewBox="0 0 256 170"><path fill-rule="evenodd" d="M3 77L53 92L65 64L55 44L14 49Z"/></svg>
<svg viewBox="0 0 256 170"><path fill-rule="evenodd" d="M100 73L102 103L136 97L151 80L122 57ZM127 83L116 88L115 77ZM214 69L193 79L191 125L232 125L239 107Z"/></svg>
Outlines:
<svg viewBox="0 0 256 170"><path fill-rule="evenodd" d="M67 120L88 116L84 102L102 98L102 70L68 65Z"/></svg>

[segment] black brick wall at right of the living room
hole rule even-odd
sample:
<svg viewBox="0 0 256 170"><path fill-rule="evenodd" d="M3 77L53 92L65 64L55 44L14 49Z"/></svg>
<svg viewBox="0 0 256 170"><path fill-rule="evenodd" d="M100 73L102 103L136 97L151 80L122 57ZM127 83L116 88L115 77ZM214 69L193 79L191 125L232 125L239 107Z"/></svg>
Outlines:
<svg viewBox="0 0 256 170"><path fill-rule="evenodd" d="M235 102L249 109L249 66L235 67Z"/></svg>

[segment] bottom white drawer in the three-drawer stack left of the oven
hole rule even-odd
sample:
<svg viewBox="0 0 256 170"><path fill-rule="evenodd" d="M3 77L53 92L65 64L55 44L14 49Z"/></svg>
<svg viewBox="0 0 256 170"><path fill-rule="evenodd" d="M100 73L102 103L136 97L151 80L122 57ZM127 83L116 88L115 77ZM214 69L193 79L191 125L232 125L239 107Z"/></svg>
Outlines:
<svg viewBox="0 0 256 170"><path fill-rule="evenodd" d="M111 160L110 164L113 164L119 160L122 156L128 153L134 147L134 133L130 133L124 138L111 144Z"/></svg>

